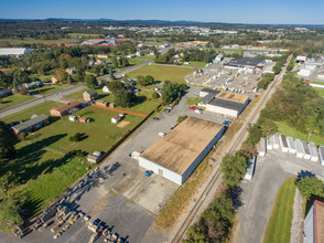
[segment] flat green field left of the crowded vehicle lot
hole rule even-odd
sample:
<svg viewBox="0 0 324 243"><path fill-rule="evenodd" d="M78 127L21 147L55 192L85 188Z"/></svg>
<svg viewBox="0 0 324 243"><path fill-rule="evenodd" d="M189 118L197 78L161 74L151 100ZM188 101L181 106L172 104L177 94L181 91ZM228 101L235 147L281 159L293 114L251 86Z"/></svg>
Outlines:
<svg viewBox="0 0 324 243"><path fill-rule="evenodd" d="M127 75L131 78L136 78L138 75L152 75L155 81L185 83L184 77L191 73L193 73L192 68L181 66L144 65L138 70L129 72Z"/></svg>

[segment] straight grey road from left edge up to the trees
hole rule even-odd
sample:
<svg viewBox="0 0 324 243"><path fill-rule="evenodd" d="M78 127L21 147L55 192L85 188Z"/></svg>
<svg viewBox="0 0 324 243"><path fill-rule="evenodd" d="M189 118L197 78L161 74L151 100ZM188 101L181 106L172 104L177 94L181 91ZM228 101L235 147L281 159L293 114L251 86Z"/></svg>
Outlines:
<svg viewBox="0 0 324 243"><path fill-rule="evenodd" d="M79 85L75 85L75 86L72 86L72 87L67 87L67 88L65 88L63 91L60 91L60 92L55 92L55 93L52 93L52 94L48 94L48 95L44 95L44 96L39 97L39 98L34 98L32 101L29 101L29 102L19 104L17 106L12 106L12 107L9 107L7 109L0 110L0 117L8 116L10 114L20 112L22 109L25 109L28 107L37 105L37 104L43 103L45 101L58 102L64 95L72 94L74 92L77 92L77 91L80 91L80 89L84 89L84 88L85 88L85 85L84 84L79 84Z"/></svg>

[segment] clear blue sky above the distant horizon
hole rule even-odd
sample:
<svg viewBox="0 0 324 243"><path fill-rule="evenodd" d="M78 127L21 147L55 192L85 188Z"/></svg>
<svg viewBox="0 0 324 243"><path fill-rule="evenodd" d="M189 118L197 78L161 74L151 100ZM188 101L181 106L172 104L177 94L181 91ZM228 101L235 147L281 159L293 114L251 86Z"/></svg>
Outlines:
<svg viewBox="0 0 324 243"><path fill-rule="evenodd" d="M2 0L0 18L324 24L323 10L323 0Z"/></svg>

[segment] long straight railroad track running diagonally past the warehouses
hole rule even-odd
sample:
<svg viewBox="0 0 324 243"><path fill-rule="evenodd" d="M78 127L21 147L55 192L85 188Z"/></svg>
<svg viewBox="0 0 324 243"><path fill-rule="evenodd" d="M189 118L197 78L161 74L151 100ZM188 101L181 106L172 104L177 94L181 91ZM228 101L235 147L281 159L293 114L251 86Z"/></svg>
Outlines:
<svg viewBox="0 0 324 243"><path fill-rule="evenodd" d="M290 56L288 59L285 66L289 64L291 57L292 56ZM226 152L233 152L237 148L239 148L240 144L244 141L244 138L245 138L245 135L246 135L246 128L247 128L248 124L255 123L257 120L260 110L263 108L263 106L266 105L266 103L268 102L268 99L272 95L272 92L271 92L272 88L274 86L279 85L280 82L282 81L282 77L283 77L283 74L285 73L285 70L287 70L287 67L284 67L284 70L274 77L274 81L269 85L269 88L264 92L264 95L263 95L262 99L257 104L255 109L249 114L249 116L245 120L242 127L239 129L238 135L233 138L233 142L227 147L226 151L223 152L223 155L219 157L219 160L223 158L223 156ZM198 197L196 203L194 204L194 207L188 212L187 218L185 219L185 221L183 222L183 224L181 225L179 231L175 233L175 235L171 240L172 243L181 242L181 240L183 239L186 230L188 229L188 226L194 221L194 218L195 218L197 211L201 209L201 207L202 207L202 204L203 204L203 202L205 200L206 194L208 194L212 191L214 186L216 186L216 183L219 180L222 180L222 173L220 173L220 168L219 168L219 163L218 163L218 168L213 172L213 177L212 177L210 181L208 182L208 184L204 189L203 193Z"/></svg>

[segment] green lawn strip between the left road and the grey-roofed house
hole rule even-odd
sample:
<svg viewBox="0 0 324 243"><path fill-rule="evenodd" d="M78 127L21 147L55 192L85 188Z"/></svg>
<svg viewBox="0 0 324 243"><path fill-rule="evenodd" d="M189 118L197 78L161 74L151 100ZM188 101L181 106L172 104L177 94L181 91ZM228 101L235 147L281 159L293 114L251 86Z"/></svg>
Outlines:
<svg viewBox="0 0 324 243"><path fill-rule="evenodd" d="M13 113L11 115L1 117L0 119L3 120L4 123L12 123L12 122L30 119L31 116L34 114L36 115L45 114L46 116L50 116L50 109L52 107L57 107L63 104L57 102L44 102L44 103L34 105L32 107L25 108L23 110Z"/></svg>

